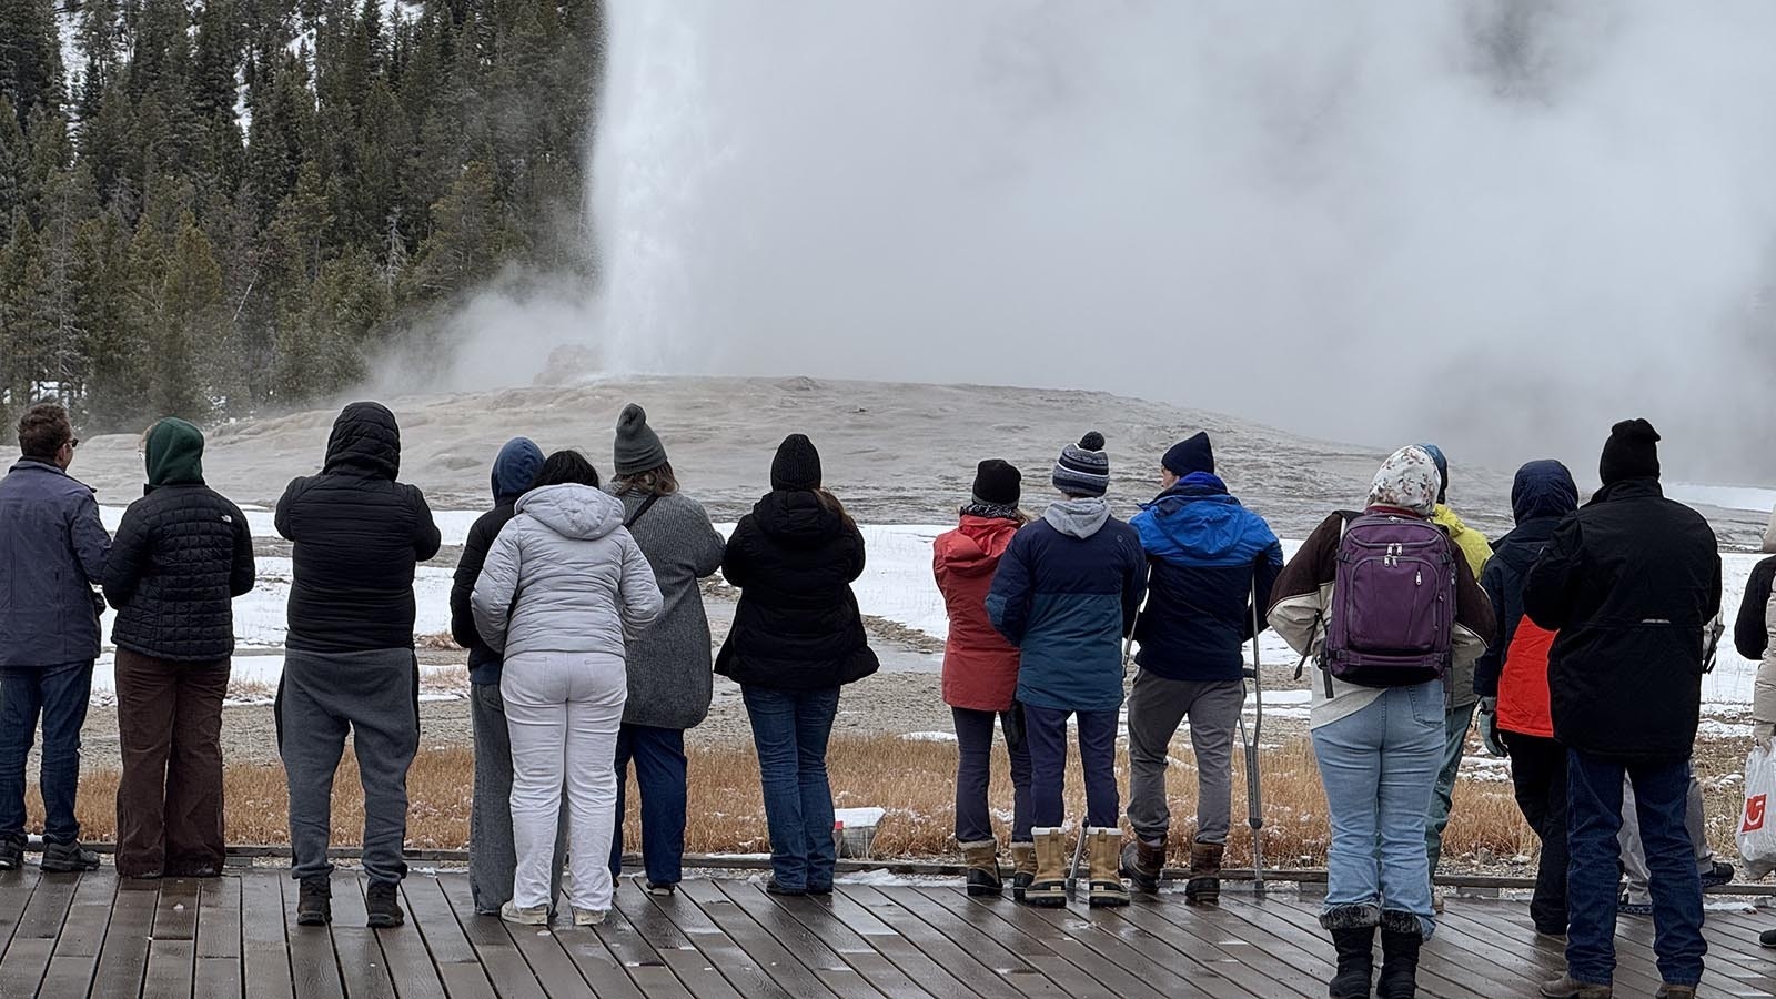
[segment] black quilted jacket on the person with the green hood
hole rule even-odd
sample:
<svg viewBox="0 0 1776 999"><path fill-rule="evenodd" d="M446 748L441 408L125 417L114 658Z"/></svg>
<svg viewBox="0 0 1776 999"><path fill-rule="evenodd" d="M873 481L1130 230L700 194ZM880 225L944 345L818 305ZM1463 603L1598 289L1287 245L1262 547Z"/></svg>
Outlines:
<svg viewBox="0 0 1776 999"><path fill-rule="evenodd" d="M162 485L130 505L112 540L112 642L174 663L226 659L233 601L252 583L252 531L240 507L202 484Z"/></svg>

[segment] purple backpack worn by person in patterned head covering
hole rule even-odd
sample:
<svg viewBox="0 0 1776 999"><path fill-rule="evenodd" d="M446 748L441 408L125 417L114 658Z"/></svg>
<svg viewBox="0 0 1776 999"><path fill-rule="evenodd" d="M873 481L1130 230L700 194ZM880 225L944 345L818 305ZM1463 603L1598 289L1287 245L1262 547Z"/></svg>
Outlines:
<svg viewBox="0 0 1776 999"><path fill-rule="evenodd" d="M1414 686L1449 672L1455 555L1431 521L1362 514L1344 524L1332 581L1332 619L1320 665L1362 686Z"/></svg>

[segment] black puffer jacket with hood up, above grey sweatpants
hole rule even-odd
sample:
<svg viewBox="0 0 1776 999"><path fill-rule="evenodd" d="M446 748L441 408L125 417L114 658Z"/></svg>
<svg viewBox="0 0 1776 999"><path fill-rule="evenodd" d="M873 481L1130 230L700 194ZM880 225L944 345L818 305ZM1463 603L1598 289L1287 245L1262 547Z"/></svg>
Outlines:
<svg viewBox="0 0 1776 999"><path fill-rule="evenodd" d="M345 407L320 475L277 501L293 542L291 649L368 652L414 643L414 565L439 553L439 528L417 487L396 482L401 432L373 402Z"/></svg>

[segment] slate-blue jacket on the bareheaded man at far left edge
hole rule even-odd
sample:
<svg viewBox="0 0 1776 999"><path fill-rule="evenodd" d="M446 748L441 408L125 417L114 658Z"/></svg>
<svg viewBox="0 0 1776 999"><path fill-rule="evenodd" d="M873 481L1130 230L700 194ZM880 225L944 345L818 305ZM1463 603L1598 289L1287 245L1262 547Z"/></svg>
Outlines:
<svg viewBox="0 0 1776 999"><path fill-rule="evenodd" d="M23 459L0 480L0 667L59 667L99 656L110 535L92 489Z"/></svg>

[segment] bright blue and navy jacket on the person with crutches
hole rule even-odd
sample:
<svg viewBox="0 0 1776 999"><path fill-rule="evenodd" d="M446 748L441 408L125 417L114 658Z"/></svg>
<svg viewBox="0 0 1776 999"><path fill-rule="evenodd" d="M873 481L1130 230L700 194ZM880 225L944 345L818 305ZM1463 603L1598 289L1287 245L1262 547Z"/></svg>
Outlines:
<svg viewBox="0 0 1776 999"><path fill-rule="evenodd" d="M1197 471L1147 503L1130 526L1151 565L1135 661L1165 679L1240 679L1254 583L1263 611L1282 574L1282 546L1270 524L1229 496L1220 478Z"/></svg>

